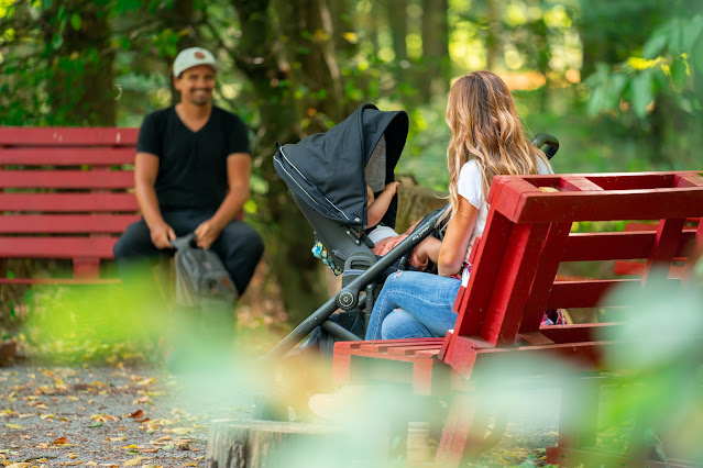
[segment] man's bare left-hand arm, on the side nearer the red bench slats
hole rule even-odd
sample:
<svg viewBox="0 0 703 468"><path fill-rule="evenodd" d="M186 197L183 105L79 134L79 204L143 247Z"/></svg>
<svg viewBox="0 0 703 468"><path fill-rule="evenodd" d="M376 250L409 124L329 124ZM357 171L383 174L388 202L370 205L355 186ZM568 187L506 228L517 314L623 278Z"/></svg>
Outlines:
<svg viewBox="0 0 703 468"><path fill-rule="evenodd" d="M138 153L134 159L134 194L140 211L149 226L152 243L157 248L169 248L176 233L166 224L158 208L154 185L158 174L158 157L151 153Z"/></svg>

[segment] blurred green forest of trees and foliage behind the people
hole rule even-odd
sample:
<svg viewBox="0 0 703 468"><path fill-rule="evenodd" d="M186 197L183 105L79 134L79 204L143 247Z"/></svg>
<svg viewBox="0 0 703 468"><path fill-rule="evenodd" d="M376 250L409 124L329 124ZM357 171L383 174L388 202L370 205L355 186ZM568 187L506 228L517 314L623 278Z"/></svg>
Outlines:
<svg viewBox="0 0 703 468"><path fill-rule="evenodd" d="M274 144L362 102L408 112L396 174L437 191L447 91L476 69L505 79L530 132L558 136L557 172L703 161L702 0L0 0L0 125L139 126L176 102L169 67L195 45L222 65L216 103L251 131L246 220L267 247L257 291L276 298L268 321L283 330L327 290ZM23 267L39 268L10 271ZM7 333L31 297L0 299Z"/></svg>

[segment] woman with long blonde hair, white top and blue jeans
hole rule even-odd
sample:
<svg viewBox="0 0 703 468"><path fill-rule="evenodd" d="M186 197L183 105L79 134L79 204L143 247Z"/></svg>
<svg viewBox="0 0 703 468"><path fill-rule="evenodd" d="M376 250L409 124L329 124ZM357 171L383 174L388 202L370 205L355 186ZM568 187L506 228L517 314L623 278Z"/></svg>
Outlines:
<svg viewBox="0 0 703 468"><path fill-rule="evenodd" d="M447 149L450 208L439 275L389 276L373 308L366 339L443 336L452 328L452 305L471 271L466 259L485 227L491 181L497 175L553 174L543 153L530 144L513 96L495 74L474 71L454 82L447 124L452 133Z"/></svg>

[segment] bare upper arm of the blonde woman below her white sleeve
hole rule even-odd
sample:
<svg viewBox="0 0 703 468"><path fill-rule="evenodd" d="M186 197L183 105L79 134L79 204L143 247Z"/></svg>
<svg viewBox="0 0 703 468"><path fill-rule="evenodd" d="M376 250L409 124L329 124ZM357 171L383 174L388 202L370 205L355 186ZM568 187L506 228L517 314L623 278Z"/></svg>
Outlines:
<svg viewBox="0 0 703 468"><path fill-rule="evenodd" d="M479 209L465 198L459 197L458 210L447 224L447 233L439 250L437 269L440 276L457 275L461 269L477 218Z"/></svg>

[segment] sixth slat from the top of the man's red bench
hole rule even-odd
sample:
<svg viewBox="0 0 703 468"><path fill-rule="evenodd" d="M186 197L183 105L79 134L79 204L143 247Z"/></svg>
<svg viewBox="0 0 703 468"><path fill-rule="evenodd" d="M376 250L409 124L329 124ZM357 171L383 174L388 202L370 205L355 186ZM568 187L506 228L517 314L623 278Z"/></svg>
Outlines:
<svg viewBox="0 0 703 468"><path fill-rule="evenodd" d="M111 259L117 237L0 237L0 258Z"/></svg>

